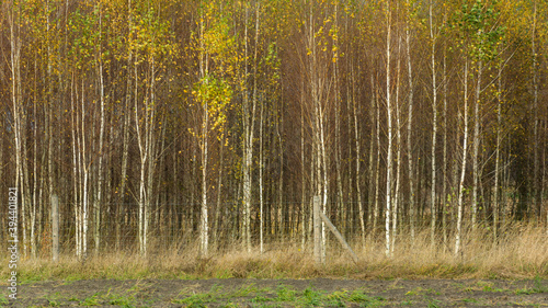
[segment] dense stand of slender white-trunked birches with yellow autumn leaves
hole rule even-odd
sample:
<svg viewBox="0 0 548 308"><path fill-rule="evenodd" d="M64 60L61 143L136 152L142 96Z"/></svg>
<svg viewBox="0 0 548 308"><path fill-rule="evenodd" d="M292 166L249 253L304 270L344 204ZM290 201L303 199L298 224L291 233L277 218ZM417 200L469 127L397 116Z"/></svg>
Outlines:
<svg viewBox="0 0 548 308"><path fill-rule="evenodd" d="M545 0L4 0L0 238L203 254L548 219Z"/></svg>

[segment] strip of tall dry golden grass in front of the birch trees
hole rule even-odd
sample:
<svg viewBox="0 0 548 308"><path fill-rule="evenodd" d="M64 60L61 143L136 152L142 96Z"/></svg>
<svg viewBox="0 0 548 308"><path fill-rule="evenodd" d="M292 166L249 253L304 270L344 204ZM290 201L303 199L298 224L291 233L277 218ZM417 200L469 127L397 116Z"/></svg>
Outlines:
<svg viewBox="0 0 548 308"><path fill-rule="evenodd" d="M324 265L315 265L311 247L270 244L265 253L218 250L199 258L195 246L170 249L162 254L141 258L136 253L104 253L79 261L62 255L57 264L49 259L21 260L18 273L22 281L90 278L548 278L548 236L541 227L513 225L493 242L489 230L467 231L463 253L452 251L454 242L431 246L430 232L398 238L393 256L385 255L381 237L365 247L353 241L359 258L354 264L340 244L330 241ZM0 273L8 275L7 259Z"/></svg>

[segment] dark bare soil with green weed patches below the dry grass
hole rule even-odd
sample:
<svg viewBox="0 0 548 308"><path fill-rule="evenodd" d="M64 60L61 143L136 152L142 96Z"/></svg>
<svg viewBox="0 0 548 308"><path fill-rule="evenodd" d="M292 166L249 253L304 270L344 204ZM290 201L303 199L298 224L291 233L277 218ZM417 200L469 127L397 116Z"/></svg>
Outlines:
<svg viewBox="0 0 548 308"><path fill-rule="evenodd" d="M548 307L548 281L56 281L7 295L0 307Z"/></svg>

